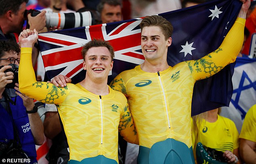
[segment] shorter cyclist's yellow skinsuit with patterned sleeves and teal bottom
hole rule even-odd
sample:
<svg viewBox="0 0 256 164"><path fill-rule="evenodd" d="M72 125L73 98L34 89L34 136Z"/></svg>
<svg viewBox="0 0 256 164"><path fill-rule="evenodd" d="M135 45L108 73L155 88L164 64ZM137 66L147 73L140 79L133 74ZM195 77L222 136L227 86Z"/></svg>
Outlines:
<svg viewBox="0 0 256 164"><path fill-rule="evenodd" d="M55 103L63 123L73 163L118 163L118 131L127 141L136 141L136 131L126 97L109 87L109 94L93 94L80 84L65 88L37 82L31 48L21 48L19 89L44 103Z"/></svg>

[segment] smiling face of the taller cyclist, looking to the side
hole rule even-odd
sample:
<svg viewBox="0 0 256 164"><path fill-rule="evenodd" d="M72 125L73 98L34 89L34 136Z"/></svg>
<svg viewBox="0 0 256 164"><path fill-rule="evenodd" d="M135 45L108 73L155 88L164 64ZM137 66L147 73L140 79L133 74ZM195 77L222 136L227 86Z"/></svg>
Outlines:
<svg viewBox="0 0 256 164"><path fill-rule="evenodd" d="M166 61L168 47L172 43L172 38L167 40L158 26L144 27L141 31L142 53L147 61Z"/></svg>

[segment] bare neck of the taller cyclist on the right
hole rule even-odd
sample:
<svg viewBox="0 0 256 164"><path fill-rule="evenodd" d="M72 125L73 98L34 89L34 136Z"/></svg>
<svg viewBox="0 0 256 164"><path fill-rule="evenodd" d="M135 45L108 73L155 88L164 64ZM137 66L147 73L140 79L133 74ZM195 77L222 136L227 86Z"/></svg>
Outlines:
<svg viewBox="0 0 256 164"><path fill-rule="evenodd" d="M168 65L167 61L153 63L153 62L149 62L149 61L145 60L144 63L141 64L141 70L143 70L145 72L152 72L152 73L160 72L160 71L164 71L168 68L169 68L169 65Z"/></svg>

